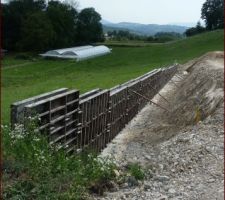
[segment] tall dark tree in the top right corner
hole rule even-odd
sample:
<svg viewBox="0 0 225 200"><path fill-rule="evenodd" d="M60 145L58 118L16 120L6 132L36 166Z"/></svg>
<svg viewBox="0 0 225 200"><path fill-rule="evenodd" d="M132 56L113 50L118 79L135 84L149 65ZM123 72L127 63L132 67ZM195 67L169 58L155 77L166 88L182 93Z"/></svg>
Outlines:
<svg viewBox="0 0 225 200"><path fill-rule="evenodd" d="M201 18L205 21L207 30L223 28L224 1L206 0L202 6Z"/></svg>

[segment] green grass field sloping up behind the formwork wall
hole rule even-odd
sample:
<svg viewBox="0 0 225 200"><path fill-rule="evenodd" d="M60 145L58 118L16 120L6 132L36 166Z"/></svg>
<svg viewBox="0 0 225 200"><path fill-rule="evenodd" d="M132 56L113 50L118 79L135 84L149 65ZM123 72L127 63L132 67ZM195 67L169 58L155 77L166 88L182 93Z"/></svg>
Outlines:
<svg viewBox="0 0 225 200"><path fill-rule="evenodd" d="M208 51L223 50L223 30L167 44L112 47L112 53L82 62L73 60L2 61L2 120L9 122L10 104L54 89L76 88L84 93L110 88L154 68L185 63Z"/></svg>

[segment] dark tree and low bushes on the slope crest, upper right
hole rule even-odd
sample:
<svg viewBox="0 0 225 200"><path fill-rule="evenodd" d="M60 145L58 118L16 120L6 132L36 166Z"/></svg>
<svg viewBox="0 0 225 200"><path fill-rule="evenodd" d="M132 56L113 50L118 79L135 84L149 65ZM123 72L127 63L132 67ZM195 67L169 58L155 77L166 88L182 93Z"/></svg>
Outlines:
<svg viewBox="0 0 225 200"><path fill-rule="evenodd" d="M224 1L206 0L201 9L201 18L204 20L206 26L203 27L198 22L195 27L186 30L186 36L222 29L224 27Z"/></svg>

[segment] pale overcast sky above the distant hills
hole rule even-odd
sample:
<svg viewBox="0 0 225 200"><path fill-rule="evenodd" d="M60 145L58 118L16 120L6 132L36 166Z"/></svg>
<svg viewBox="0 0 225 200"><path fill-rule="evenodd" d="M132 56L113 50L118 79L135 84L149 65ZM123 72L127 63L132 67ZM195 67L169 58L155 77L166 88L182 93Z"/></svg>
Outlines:
<svg viewBox="0 0 225 200"><path fill-rule="evenodd" d="M169 24L197 21L206 0L77 0L79 9L94 7L110 22Z"/></svg>

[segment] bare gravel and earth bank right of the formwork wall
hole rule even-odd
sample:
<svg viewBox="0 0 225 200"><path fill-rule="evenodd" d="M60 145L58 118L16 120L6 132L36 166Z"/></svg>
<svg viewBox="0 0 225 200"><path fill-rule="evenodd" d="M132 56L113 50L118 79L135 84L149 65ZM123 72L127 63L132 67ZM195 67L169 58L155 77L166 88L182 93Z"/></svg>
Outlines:
<svg viewBox="0 0 225 200"><path fill-rule="evenodd" d="M136 187L123 184L95 199L224 199L224 54L210 52L179 66L153 101L103 151L121 168L148 171Z"/></svg>

